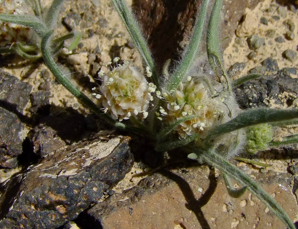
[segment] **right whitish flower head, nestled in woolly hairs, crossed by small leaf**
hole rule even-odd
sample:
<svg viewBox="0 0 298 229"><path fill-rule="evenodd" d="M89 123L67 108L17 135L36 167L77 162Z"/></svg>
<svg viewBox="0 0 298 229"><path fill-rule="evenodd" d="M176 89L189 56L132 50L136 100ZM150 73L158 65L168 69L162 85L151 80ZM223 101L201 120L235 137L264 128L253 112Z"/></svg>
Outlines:
<svg viewBox="0 0 298 229"><path fill-rule="evenodd" d="M167 100L167 120L175 122L187 116L195 116L192 119L181 122L174 130L179 138L186 138L195 133L204 138L210 127L218 124L224 110L224 103L220 97L212 98L208 87L203 82L195 82L192 77L187 77L176 90L171 90ZM163 110L160 110L163 113Z"/></svg>

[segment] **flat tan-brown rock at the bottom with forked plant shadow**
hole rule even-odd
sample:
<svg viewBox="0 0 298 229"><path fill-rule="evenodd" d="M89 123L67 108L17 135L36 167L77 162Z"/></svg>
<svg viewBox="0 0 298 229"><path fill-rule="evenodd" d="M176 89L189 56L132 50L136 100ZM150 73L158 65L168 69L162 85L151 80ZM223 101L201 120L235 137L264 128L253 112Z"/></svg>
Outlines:
<svg viewBox="0 0 298 229"><path fill-rule="evenodd" d="M298 210L288 173L250 166L244 171L279 202L291 219ZM283 223L250 192L232 198L225 183L207 166L161 170L138 186L114 194L87 214L102 228L284 228ZM239 187L235 182L234 186ZM97 224L99 226L99 223Z"/></svg>

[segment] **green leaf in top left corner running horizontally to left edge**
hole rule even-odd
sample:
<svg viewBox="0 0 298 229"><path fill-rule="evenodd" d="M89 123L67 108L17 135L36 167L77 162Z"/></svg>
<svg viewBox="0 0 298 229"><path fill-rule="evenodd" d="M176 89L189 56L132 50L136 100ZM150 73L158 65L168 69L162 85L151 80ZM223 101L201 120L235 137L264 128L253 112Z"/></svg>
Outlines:
<svg viewBox="0 0 298 229"><path fill-rule="evenodd" d="M11 22L18 25L23 25L33 29L40 37L46 33L46 27L36 17L28 15L13 15L0 13L0 21Z"/></svg>

